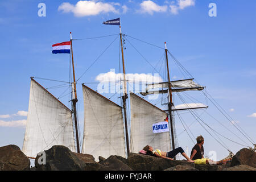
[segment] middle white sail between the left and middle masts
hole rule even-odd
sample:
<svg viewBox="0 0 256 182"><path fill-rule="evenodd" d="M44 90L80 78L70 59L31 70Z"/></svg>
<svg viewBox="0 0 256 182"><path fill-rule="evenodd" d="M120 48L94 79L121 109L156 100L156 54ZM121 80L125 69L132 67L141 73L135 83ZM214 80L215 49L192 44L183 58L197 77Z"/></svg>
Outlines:
<svg viewBox="0 0 256 182"><path fill-rule="evenodd" d="M125 157L122 107L82 85L84 94L84 139L82 153L108 158Z"/></svg>

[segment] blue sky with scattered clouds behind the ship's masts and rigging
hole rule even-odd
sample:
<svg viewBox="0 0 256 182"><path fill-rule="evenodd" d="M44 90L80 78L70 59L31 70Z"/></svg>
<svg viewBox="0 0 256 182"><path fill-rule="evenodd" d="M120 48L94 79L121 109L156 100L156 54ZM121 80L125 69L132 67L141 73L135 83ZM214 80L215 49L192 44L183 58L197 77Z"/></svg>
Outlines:
<svg viewBox="0 0 256 182"><path fill-rule="evenodd" d="M46 16L38 16L38 4L46 4ZM120 17L123 34L145 40L168 50L196 78L207 86L207 92L232 116L250 138L256 138L256 2L254 0L205 1L92 1L94 5L79 5L78 1L1 1L0 48L1 100L0 146L16 144L22 148L24 123L28 109L30 77L69 81L69 55L53 55L51 45L74 39L118 34L118 26L106 26L105 20ZM85 1L83 1L85 3ZM89 1L87 1L89 2ZM210 17L209 3L216 3L217 17ZM100 6L101 5L101 6ZM102 39L80 40L73 43L76 77L79 78L116 36ZM128 40L151 63L158 65L163 49L152 47L127 37L125 44L126 73L152 73L154 69L133 49ZM171 58L170 58L171 59ZM78 85L80 132L83 130L82 82L96 82L100 73L119 71L119 42L100 57L81 77ZM159 69L159 68L158 68ZM171 78L183 78L173 61L170 61ZM46 88L58 82L37 80ZM89 84L94 90L97 84ZM56 97L65 88L49 90ZM197 94L197 93L196 93ZM196 94L191 95L197 96ZM201 96L200 96L201 97ZM202 97L203 98L203 97ZM68 97L61 101L68 104ZM205 102L202 100L202 102ZM177 103L180 104L180 103ZM218 118L237 135L223 115L209 104L209 113ZM204 110L199 111L203 113ZM210 126L236 140L222 130L221 125L205 117ZM184 114L187 125L193 122ZM184 129L176 120L177 134ZM194 135L205 137L205 150L216 151L217 159L228 152L207 134L199 124L191 126ZM191 150L193 144L185 133L179 136L181 147ZM241 136L242 138L243 136ZM249 143L246 138L243 138ZM241 142L241 141L240 141ZM237 152L242 146L226 141ZM251 143L250 143L251 144ZM190 151L189 151L190 152Z"/></svg>

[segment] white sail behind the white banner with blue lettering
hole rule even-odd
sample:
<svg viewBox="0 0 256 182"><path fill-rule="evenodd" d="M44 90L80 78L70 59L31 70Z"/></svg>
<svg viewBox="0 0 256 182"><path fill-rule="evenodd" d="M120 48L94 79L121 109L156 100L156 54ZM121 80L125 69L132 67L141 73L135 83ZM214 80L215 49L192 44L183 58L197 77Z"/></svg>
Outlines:
<svg viewBox="0 0 256 182"><path fill-rule="evenodd" d="M170 131L154 133L152 127L155 123L164 122L167 114L134 93L130 93L130 105L131 152L137 153L146 145L161 151L170 151Z"/></svg>

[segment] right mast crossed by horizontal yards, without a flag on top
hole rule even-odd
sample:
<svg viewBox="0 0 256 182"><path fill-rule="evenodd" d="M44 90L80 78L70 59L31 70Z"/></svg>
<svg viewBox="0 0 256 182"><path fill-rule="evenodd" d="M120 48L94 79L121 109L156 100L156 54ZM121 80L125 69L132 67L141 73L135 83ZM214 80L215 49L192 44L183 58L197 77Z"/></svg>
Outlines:
<svg viewBox="0 0 256 182"><path fill-rule="evenodd" d="M166 46L166 42L164 43ZM170 72L169 72L169 65L168 65L168 54L167 54L167 46L166 46L166 65L167 65L167 73L168 73L168 83L169 83L169 102L168 102L168 113L170 116L170 124L171 124L171 136L172 136L172 150L175 149L174 143L174 126L172 123L172 106L174 105L172 102L172 89L171 89L171 80L170 80ZM175 157L174 157L175 159Z"/></svg>

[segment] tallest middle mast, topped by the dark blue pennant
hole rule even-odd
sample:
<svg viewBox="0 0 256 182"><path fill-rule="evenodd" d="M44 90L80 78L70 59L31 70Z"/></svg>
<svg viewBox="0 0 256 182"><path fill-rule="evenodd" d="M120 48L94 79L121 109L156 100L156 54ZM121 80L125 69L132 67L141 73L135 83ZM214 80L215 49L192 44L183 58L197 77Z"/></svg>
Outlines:
<svg viewBox="0 0 256 182"><path fill-rule="evenodd" d="M121 49L122 49L122 61L123 61L123 85L124 85L124 92L123 92L123 114L125 117L125 135L126 135L126 148L127 148L127 155L129 155L130 148L129 148L129 138L128 138L128 126L127 126L127 114L126 114L126 99L128 98L127 96L127 83L126 83L126 77L125 77L125 59L123 58L123 41L122 41L122 30L121 26L120 28L120 41L121 41Z"/></svg>

